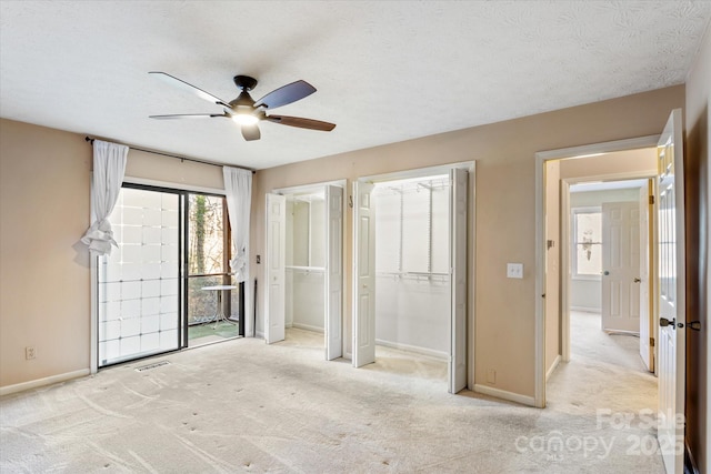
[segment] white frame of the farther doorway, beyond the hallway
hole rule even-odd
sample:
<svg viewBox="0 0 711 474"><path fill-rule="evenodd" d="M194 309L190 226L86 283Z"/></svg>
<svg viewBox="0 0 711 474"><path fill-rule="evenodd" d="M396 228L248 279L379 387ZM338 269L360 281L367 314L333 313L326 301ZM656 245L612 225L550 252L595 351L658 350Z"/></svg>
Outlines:
<svg viewBox="0 0 711 474"><path fill-rule="evenodd" d="M642 147L645 148L645 147ZM622 151L622 150L615 150ZM607 173L607 174L595 174L589 177L577 177L577 178L565 178L561 180L561 235L560 235L560 245L561 245L561 281L560 281L560 293L561 293L561 361L569 362L570 361L570 288L572 275L570 273L570 264L572 262L572 251L571 251L571 221L570 221L570 186L573 184L585 183L590 181L628 181L628 180L643 180L654 178L653 173L639 173L637 171L633 172L623 172L623 173ZM647 184L649 185L649 184ZM652 190L653 191L653 190ZM650 216L653 219L653 216ZM650 271L652 269L653 262L649 262ZM650 282L652 281L650 276ZM650 293L653 290L653 284L650 284ZM652 307L649 309L649 312L652 312Z"/></svg>

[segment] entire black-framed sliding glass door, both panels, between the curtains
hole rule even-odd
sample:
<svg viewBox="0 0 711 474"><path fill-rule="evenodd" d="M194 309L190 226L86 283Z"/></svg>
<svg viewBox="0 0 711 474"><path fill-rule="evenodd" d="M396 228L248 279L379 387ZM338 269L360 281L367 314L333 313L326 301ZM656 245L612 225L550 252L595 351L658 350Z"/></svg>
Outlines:
<svg viewBox="0 0 711 474"><path fill-rule="evenodd" d="M222 195L124 184L109 221L118 249L98 259L99 367L243 335Z"/></svg>

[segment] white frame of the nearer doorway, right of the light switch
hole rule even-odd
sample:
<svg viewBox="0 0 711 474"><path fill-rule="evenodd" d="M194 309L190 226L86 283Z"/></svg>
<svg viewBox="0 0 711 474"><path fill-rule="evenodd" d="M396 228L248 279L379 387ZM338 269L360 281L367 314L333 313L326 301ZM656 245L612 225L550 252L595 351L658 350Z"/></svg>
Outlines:
<svg viewBox="0 0 711 474"><path fill-rule="evenodd" d="M584 158L617 151L635 150L640 148L655 148L659 134L639 137L627 140L615 140L571 147L558 150L547 150L535 153L535 324L534 324L534 390L533 403L539 409L545 407L545 307L542 297L545 293L545 225L543 208L545 182L545 162L563 158ZM563 243L561 242L561 245ZM562 265L561 265L562 266ZM562 279L565 281L567 279ZM565 311L565 310L563 310ZM568 311L568 317L570 312ZM570 324L567 324L570 331Z"/></svg>

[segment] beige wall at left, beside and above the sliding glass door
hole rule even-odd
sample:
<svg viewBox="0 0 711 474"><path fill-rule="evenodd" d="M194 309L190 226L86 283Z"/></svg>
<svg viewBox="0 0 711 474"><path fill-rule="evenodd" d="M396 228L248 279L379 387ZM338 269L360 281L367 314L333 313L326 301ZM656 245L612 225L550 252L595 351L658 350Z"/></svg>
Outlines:
<svg viewBox="0 0 711 474"><path fill-rule="evenodd" d="M83 135L0 120L0 387L90 367L89 255L79 240L89 226L91 169ZM126 174L223 188L221 167L134 150Z"/></svg>

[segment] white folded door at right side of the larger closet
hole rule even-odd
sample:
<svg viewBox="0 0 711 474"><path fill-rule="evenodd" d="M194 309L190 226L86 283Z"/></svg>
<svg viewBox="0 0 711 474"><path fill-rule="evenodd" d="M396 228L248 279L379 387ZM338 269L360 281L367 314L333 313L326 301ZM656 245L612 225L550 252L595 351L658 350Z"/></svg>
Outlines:
<svg viewBox="0 0 711 474"><path fill-rule="evenodd" d="M467 386L467 170L450 171L450 265L452 292L449 392Z"/></svg>

